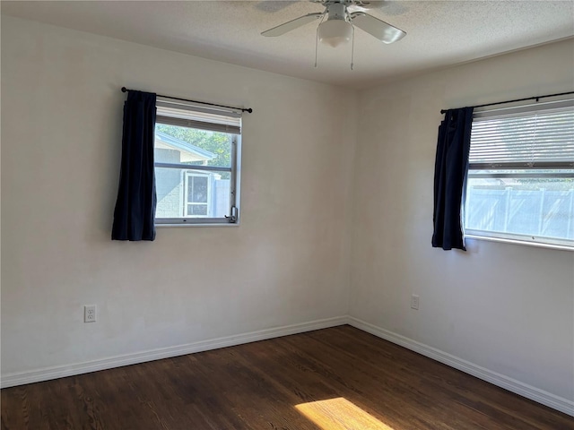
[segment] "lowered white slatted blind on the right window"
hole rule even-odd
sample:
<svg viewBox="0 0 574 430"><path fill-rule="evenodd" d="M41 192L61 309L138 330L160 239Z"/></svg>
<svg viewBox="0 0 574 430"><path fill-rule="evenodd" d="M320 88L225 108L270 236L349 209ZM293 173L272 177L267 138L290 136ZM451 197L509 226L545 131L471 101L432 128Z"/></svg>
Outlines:
<svg viewBox="0 0 574 430"><path fill-rule="evenodd" d="M477 113L469 168L574 168L574 100Z"/></svg>

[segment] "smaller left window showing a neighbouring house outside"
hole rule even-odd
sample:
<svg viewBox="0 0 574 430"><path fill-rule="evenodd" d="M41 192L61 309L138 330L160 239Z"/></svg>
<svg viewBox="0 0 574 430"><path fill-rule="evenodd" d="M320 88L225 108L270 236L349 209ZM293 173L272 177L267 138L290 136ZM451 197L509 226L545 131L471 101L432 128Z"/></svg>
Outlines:
<svg viewBox="0 0 574 430"><path fill-rule="evenodd" d="M237 224L241 112L156 104L156 224Z"/></svg>

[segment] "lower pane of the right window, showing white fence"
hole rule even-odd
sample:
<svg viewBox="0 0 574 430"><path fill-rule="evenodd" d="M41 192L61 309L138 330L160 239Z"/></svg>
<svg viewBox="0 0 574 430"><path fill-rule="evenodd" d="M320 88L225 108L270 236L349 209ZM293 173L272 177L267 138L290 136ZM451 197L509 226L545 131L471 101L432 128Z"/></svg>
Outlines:
<svg viewBox="0 0 574 430"><path fill-rule="evenodd" d="M471 170L465 228L531 236L533 240L574 240L574 171L566 173L570 177L544 176L535 170L513 173L516 175ZM499 177L489 177L492 174Z"/></svg>

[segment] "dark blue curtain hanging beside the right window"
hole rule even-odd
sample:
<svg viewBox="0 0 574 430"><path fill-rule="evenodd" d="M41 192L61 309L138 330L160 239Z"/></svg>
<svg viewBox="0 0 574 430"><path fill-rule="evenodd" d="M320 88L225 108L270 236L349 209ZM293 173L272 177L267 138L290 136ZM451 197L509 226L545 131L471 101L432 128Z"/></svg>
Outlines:
<svg viewBox="0 0 574 430"><path fill-rule="evenodd" d="M432 246L466 251L461 224L473 107L448 110L439 126L434 165Z"/></svg>

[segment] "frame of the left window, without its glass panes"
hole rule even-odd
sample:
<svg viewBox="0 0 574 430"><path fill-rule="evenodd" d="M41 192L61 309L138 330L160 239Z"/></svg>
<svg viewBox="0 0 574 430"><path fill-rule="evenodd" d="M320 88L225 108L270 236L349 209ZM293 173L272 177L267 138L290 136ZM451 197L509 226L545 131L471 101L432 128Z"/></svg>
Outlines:
<svg viewBox="0 0 574 430"><path fill-rule="evenodd" d="M228 215L224 217L202 217L202 216L187 216L187 179L182 181L182 208L183 212L180 217L174 218L157 218L155 217L156 227L182 227L182 226L239 226L239 207L240 207L240 157L241 157L241 111L236 109L227 109L219 107L204 107L196 105L191 102L174 101L171 99L161 99L158 97L156 107L170 107L174 116L160 115L156 116L156 124L161 125L175 125L179 127L186 127L196 130L206 130L216 133L230 134L230 167L218 166L204 166L204 165L189 165L184 163L163 163L154 161L155 168L177 168L180 169L183 176L187 177L187 171L195 171L196 174L206 176L208 178L208 188L213 190L212 179L209 173L230 173L230 201ZM176 111L179 110L180 114ZM160 110L161 113L161 110ZM197 118L189 119L189 116L194 116L197 113ZM185 114L185 115L184 115ZM179 117L181 116L181 117ZM221 120L219 120L221 117ZM238 125L228 125L225 118L235 118L233 123ZM237 119L239 118L239 119ZM196 126L194 126L196 125ZM155 144L154 144L155 148ZM208 194L208 211L209 201L213 196Z"/></svg>

